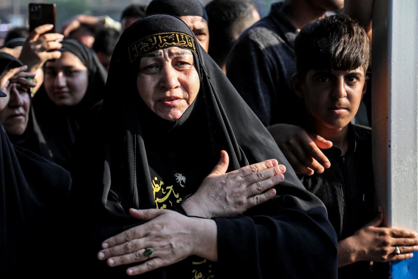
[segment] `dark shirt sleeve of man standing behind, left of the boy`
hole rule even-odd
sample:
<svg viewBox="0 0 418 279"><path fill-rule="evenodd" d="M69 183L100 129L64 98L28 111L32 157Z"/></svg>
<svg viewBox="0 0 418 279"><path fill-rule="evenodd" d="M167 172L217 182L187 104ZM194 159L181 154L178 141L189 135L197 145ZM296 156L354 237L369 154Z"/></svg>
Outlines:
<svg viewBox="0 0 418 279"><path fill-rule="evenodd" d="M275 92L272 70L263 50L246 37L235 44L227 61L227 78L264 126L270 125Z"/></svg>

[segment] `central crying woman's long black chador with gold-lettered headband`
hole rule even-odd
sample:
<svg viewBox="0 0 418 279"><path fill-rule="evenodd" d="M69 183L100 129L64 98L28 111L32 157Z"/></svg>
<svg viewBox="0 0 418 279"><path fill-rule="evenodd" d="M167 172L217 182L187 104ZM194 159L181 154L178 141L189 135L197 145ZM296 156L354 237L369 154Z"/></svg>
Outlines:
<svg viewBox="0 0 418 279"><path fill-rule="evenodd" d="M141 55L169 46L189 49L200 77L196 101L176 121L151 112L136 85ZM122 34L97 122L83 127L76 142L71 235L86 249L78 253L84 256L78 262L96 276L123 276L126 266L110 268L97 260L100 243L142 223L130 217L130 207L185 214L182 199L196 191L221 150L229 154L228 171L272 158L285 165L278 195L245 216L214 218L218 263L190 257L141 278L336 278L336 234L324 204L306 191L269 132L196 44L187 25L171 15L149 15Z"/></svg>

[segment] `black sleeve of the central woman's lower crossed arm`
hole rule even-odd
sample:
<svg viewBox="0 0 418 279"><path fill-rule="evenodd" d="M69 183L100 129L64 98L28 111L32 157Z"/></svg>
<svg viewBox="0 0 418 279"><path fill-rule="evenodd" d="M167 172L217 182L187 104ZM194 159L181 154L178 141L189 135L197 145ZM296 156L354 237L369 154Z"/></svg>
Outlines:
<svg viewBox="0 0 418 279"><path fill-rule="evenodd" d="M252 279L337 278L336 235L326 209L318 206L302 212L293 209L295 200L288 198L267 202L263 212L270 212L268 216L214 218L220 274ZM280 209L278 204L291 206Z"/></svg>

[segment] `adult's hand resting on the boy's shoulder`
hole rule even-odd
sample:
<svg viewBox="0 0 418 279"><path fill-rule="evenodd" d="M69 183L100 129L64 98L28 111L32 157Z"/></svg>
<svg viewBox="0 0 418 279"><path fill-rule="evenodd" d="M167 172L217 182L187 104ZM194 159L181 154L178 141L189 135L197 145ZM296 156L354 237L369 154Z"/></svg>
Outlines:
<svg viewBox="0 0 418 279"><path fill-rule="evenodd" d="M275 124L267 129L296 173L311 176L331 166L319 149L331 148L329 140L290 124Z"/></svg>

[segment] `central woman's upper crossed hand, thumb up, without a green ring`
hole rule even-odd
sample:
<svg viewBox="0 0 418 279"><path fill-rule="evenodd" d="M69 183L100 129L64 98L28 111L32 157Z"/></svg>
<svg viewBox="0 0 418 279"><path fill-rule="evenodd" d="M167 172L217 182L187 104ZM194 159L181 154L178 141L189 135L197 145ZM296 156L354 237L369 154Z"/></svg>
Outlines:
<svg viewBox="0 0 418 279"><path fill-rule="evenodd" d="M242 214L273 198L276 190L270 188L283 182L286 171L275 159L226 173L228 165L228 153L222 150L219 163L196 193L183 202L182 207L189 216L212 218Z"/></svg>

